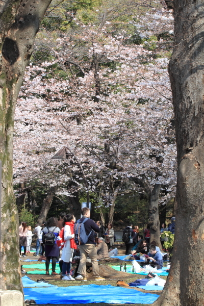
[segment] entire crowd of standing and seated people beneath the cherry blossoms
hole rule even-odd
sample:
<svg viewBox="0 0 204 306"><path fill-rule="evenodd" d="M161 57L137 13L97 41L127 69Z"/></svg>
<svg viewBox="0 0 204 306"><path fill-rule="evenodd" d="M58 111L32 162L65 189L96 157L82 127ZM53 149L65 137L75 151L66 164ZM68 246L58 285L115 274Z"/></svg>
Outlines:
<svg viewBox="0 0 204 306"><path fill-rule="evenodd" d="M103 281L100 277L97 260L105 259L109 256L109 250L112 248L115 240L113 225L108 223L107 229L100 221L94 222L90 219L90 210L83 208L81 210L82 218L77 223L83 223L87 235L87 242L85 244L77 245L74 241L74 224L75 217L72 214L66 215L62 212L59 220L51 217L46 223L42 222L42 226L36 224L32 233L31 226L22 222L19 226L19 247L20 256L21 248L23 247L23 257L26 253L30 253L32 236L36 235L36 252L34 256L45 255L45 273L49 275L49 265L52 260L52 275L56 275L56 263L59 261L60 248L57 245L57 238L63 228L64 247L61 254L60 269L63 281L85 281L87 280L87 264L91 264L93 276L96 281ZM125 242L125 254L132 254L134 259L137 254L144 254L146 262L141 265L148 264L151 260L151 265L158 269L163 266L162 253L155 241L149 244L150 231L149 225L144 230L144 235L139 234L139 227L129 224L124 228L123 241ZM164 231L171 231L174 234L175 217L172 217L171 223L166 227L162 224L161 234ZM48 235L49 234L49 235ZM48 237L48 238L46 238ZM50 240L49 240L50 239ZM53 239L53 240L52 240ZM48 241L49 240L49 241ZM48 242L49 243L48 243ZM161 239L164 244L165 239ZM162 245L163 245L162 244ZM78 261L78 275L73 278L71 276L71 263Z"/></svg>

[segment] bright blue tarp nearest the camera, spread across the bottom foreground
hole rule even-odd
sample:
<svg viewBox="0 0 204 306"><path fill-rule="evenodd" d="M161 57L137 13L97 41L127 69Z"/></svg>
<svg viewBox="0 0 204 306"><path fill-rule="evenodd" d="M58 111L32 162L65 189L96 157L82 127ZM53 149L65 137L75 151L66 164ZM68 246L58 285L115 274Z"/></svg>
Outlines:
<svg viewBox="0 0 204 306"><path fill-rule="evenodd" d="M159 295L111 285L83 285L57 288L24 288L24 299L37 304L133 303L152 304Z"/></svg>

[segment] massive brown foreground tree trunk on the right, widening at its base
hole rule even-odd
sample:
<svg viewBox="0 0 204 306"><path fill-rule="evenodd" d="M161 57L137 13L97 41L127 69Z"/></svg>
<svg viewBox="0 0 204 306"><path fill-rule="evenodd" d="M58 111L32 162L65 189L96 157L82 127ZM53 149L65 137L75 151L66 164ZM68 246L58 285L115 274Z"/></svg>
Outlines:
<svg viewBox="0 0 204 306"><path fill-rule="evenodd" d="M203 306L203 1L174 1L169 74L175 111L177 194L170 274L157 306Z"/></svg>

